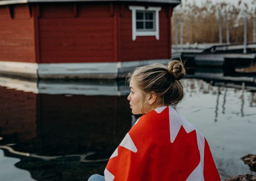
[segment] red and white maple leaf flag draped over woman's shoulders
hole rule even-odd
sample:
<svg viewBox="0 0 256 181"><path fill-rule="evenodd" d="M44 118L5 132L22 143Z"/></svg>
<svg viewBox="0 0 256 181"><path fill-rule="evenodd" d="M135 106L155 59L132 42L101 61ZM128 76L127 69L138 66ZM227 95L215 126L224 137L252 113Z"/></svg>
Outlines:
<svg viewBox="0 0 256 181"><path fill-rule="evenodd" d="M220 181L206 139L171 106L138 119L104 175L106 181Z"/></svg>

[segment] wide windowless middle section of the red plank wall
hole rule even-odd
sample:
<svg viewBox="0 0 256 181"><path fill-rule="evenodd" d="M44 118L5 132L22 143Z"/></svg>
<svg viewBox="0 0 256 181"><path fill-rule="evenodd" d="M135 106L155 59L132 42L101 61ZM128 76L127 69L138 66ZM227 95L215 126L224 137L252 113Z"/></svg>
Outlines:
<svg viewBox="0 0 256 181"><path fill-rule="evenodd" d="M110 3L41 4L41 63L117 62Z"/></svg>

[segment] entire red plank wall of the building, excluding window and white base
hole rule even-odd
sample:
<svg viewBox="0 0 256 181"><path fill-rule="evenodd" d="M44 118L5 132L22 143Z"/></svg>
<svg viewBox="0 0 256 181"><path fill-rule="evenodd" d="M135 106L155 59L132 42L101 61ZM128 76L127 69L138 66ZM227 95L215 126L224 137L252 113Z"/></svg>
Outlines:
<svg viewBox="0 0 256 181"><path fill-rule="evenodd" d="M162 7L159 40L154 36L132 40L129 5ZM168 59L170 11L163 4L120 2L0 6L0 61L94 63Z"/></svg>

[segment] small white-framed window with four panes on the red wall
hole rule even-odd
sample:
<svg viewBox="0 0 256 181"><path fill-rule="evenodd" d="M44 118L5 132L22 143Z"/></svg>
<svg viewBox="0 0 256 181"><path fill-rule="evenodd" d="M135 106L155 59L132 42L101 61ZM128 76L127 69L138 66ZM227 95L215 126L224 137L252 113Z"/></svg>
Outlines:
<svg viewBox="0 0 256 181"><path fill-rule="evenodd" d="M132 11L132 39L155 36L159 39L159 11L161 7L129 6Z"/></svg>

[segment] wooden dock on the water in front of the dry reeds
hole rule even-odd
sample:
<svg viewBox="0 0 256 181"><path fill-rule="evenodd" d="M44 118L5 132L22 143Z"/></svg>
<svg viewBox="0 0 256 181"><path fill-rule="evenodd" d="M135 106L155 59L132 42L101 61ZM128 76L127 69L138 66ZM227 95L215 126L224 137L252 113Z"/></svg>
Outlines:
<svg viewBox="0 0 256 181"><path fill-rule="evenodd" d="M182 57L195 66L244 66L256 59L256 43L198 44L173 47L172 58Z"/></svg>

